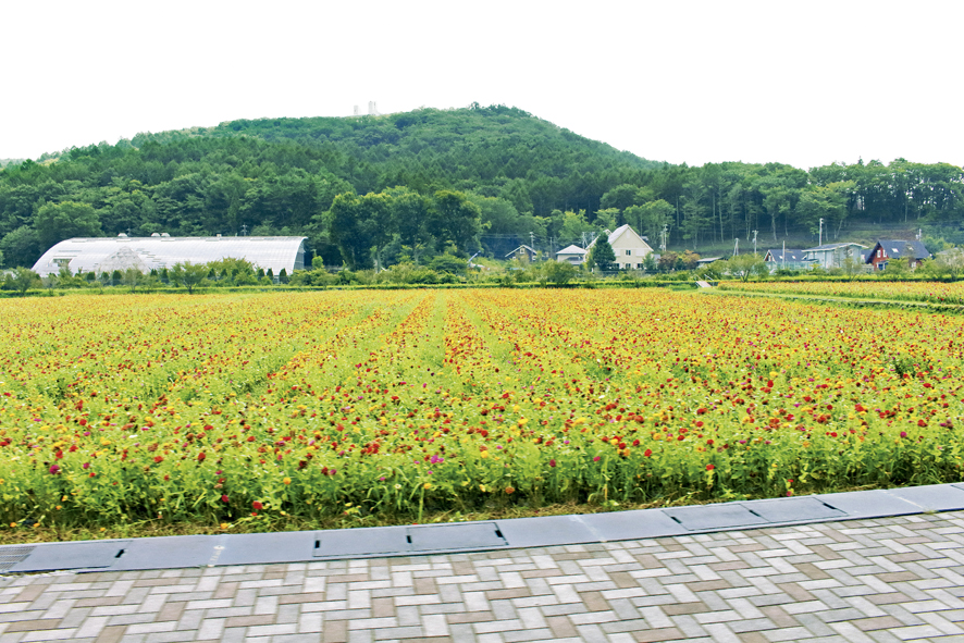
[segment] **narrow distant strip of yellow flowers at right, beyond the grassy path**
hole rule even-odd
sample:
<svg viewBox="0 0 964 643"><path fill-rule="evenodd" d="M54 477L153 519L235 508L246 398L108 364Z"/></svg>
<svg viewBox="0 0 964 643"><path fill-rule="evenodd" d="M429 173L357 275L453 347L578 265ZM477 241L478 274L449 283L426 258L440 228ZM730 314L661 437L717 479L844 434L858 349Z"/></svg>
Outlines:
<svg viewBox="0 0 964 643"><path fill-rule="evenodd" d="M964 306L964 282L726 282L727 290Z"/></svg>

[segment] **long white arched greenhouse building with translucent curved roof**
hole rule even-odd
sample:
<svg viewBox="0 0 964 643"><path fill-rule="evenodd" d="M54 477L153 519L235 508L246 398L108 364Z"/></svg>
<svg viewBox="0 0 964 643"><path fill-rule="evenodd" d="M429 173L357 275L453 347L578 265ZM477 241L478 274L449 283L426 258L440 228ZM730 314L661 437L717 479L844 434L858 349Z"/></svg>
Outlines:
<svg viewBox="0 0 964 643"><path fill-rule="evenodd" d="M46 252L34 272L57 273L64 265L76 274L136 268L147 273L175 263L207 263L219 259L245 259L274 274L305 268L307 237L90 237L60 242Z"/></svg>

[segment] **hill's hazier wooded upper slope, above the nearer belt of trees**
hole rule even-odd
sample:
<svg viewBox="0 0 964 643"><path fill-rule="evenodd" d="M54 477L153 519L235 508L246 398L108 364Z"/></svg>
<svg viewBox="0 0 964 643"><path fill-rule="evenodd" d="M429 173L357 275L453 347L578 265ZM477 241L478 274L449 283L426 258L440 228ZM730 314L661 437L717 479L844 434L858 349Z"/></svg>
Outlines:
<svg viewBox="0 0 964 643"><path fill-rule="evenodd" d="M132 144L237 136L294 141L320 151L327 170L359 194L396 185L417 191L470 189L507 198L519 212L537 215L554 208L593 211L605 191L600 187L663 165L506 106L228 121L217 127L139 134Z"/></svg>

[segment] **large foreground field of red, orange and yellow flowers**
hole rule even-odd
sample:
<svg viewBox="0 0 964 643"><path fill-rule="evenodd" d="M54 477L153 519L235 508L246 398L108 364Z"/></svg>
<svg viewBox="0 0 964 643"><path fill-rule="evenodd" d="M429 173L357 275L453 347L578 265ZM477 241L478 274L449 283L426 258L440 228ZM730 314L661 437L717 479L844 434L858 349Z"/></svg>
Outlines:
<svg viewBox="0 0 964 643"><path fill-rule="evenodd" d="M648 288L0 311L8 529L364 524L962 480L953 316Z"/></svg>

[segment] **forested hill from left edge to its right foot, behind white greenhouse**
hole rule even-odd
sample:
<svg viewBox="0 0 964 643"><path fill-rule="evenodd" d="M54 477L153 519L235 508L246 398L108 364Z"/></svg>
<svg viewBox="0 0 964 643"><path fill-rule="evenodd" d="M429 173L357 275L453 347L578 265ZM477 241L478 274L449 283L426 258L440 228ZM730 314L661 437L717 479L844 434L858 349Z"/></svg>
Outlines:
<svg viewBox="0 0 964 643"><path fill-rule="evenodd" d="M341 262L325 218L334 198L396 186L430 200L471 196L489 217L480 232L531 239L545 234L536 217L592 218L608 189L657 166L505 106L232 121L0 170L0 255L3 265L30 265L62 238L122 232L305 234ZM428 237L428 256L446 243Z"/></svg>

